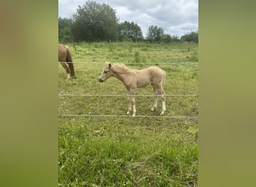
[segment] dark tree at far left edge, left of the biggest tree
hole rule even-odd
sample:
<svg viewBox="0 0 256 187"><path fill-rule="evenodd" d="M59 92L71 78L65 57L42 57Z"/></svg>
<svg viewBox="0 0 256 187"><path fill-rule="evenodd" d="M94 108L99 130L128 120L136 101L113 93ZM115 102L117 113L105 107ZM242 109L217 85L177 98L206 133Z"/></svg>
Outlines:
<svg viewBox="0 0 256 187"><path fill-rule="evenodd" d="M58 41L66 43L71 41L71 19L58 18Z"/></svg>

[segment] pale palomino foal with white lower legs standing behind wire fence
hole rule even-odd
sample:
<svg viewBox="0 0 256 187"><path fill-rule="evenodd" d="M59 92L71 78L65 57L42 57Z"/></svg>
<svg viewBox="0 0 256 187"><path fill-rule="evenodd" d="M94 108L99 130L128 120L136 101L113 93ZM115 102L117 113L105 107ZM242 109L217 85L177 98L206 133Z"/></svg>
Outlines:
<svg viewBox="0 0 256 187"><path fill-rule="evenodd" d="M147 67L144 70L132 70L124 64L115 65L106 62L103 72L100 75L99 82L104 82L109 77L116 77L123 82L127 88L128 111L127 115L132 111L132 116L136 114L135 109L135 90L149 84L153 86L155 100L151 111L154 111L157 105L158 96L162 99L162 111L160 115L165 114L165 92L163 85L165 83L165 71L159 67Z"/></svg>

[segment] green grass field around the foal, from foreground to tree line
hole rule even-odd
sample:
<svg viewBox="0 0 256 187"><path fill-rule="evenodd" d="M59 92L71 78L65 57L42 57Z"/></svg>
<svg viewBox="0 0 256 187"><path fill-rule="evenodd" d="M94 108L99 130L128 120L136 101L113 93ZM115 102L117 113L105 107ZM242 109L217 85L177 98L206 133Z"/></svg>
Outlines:
<svg viewBox="0 0 256 187"><path fill-rule="evenodd" d="M78 63L71 80L58 66L59 186L198 186L198 45L67 45ZM150 85L136 92L137 117L126 116L124 85L98 82L105 61L165 70L165 116L160 101L150 111Z"/></svg>

